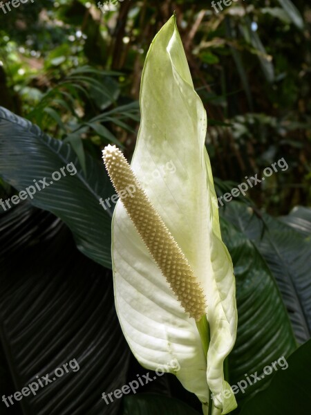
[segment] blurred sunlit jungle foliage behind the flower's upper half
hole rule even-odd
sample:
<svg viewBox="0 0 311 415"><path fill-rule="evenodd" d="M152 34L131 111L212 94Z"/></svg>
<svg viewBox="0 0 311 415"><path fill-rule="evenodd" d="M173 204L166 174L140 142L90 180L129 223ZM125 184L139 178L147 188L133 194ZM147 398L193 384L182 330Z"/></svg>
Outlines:
<svg viewBox="0 0 311 415"><path fill-rule="evenodd" d="M251 192L270 212L310 203L310 24L303 0L35 1L0 12L0 104L79 158L119 141L131 156L140 75L154 35L176 10L207 108L214 174L241 183L284 157L290 166Z"/></svg>

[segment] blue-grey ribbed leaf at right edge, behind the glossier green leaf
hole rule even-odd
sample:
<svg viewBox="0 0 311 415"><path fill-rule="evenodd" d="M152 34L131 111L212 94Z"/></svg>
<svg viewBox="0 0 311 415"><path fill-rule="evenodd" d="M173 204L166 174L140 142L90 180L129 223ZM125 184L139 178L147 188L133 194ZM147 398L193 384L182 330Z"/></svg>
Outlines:
<svg viewBox="0 0 311 415"><path fill-rule="evenodd" d="M274 275L298 342L311 336L311 241L267 214L232 201L225 217L256 243Z"/></svg>

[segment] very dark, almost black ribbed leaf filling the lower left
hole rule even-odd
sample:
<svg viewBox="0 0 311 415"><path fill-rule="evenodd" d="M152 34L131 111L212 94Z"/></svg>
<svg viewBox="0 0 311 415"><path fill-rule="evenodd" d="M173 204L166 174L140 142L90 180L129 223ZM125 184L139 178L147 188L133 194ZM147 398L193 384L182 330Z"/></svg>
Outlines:
<svg viewBox="0 0 311 415"><path fill-rule="evenodd" d="M79 365L76 370L72 362L75 370L39 387L36 396L15 400L14 408L1 403L1 409L17 415L117 414L120 400L106 405L102 393L124 385L129 348L115 314L111 271L84 257L59 219L28 204L1 214L0 231L6 253L0 261L0 330L10 368L3 393L21 391L36 376L53 380L55 369L74 359Z"/></svg>

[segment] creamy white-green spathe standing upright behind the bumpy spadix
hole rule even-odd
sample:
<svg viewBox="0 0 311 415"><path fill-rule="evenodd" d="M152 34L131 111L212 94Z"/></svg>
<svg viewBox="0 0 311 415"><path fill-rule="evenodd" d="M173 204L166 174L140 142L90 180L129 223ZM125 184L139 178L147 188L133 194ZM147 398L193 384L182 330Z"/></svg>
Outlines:
<svg viewBox="0 0 311 415"><path fill-rule="evenodd" d="M217 396L214 414L223 408L226 414L234 406L234 399L223 396L223 361L236 338L235 282L220 237L205 150L206 113L194 91L174 17L149 49L140 107L131 168L203 288L211 332L207 356L194 318L180 305L121 201L113 216L112 243L117 315L144 367L155 370L177 359L182 385L202 403L207 403L210 388Z"/></svg>

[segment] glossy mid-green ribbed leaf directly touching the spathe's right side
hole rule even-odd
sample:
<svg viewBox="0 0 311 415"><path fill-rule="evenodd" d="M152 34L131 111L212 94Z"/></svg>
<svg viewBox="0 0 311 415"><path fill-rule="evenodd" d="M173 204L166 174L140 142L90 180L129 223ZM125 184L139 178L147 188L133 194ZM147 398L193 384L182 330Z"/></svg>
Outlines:
<svg viewBox="0 0 311 415"><path fill-rule="evenodd" d="M296 342L279 289L257 248L224 219L222 233L236 275L238 333L229 356L229 381L236 386L233 390L240 405L267 386L270 378L263 374L264 367L288 356ZM256 372L260 382L252 377Z"/></svg>

